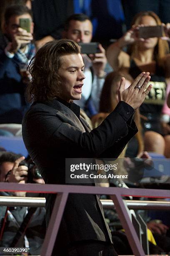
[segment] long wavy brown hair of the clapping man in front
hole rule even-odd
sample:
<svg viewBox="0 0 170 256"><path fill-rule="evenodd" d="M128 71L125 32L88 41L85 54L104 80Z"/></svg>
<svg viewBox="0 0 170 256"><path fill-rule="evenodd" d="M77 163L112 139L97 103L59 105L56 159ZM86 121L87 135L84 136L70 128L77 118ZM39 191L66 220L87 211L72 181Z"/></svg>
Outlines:
<svg viewBox="0 0 170 256"><path fill-rule="evenodd" d="M66 54L79 54L80 48L75 41L62 39L43 45L30 62L28 70L32 81L27 87L28 101L49 101L60 97L61 81L58 70L60 57Z"/></svg>

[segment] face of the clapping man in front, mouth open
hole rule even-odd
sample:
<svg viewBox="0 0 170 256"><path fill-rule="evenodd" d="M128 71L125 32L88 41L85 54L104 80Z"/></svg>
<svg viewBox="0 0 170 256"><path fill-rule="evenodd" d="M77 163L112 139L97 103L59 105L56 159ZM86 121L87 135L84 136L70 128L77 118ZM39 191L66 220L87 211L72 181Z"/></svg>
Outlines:
<svg viewBox="0 0 170 256"><path fill-rule="evenodd" d="M84 63L81 54L67 54L61 56L61 67L58 74L61 78L60 98L80 100L82 94Z"/></svg>

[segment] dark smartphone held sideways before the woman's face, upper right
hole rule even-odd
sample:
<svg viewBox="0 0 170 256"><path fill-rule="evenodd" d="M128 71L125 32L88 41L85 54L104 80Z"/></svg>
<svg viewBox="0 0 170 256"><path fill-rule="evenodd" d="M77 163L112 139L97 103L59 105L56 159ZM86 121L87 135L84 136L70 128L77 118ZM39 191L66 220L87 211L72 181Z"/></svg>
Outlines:
<svg viewBox="0 0 170 256"><path fill-rule="evenodd" d="M161 37L163 36L164 28L163 26L147 26L139 28L139 37L140 38L149 38L149 37Z"/></svg>

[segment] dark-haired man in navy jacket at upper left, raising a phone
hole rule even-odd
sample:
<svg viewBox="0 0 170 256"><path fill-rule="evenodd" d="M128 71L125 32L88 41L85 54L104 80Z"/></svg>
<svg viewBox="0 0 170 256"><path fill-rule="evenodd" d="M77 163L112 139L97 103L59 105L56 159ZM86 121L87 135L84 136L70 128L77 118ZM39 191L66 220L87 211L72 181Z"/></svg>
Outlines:
<svg viewBox="0 0 170 256"><path fill-rule="evenodd" d="M30 20L30 32L20 28L20 18ZM28 108L24 94L26 69L35 55L32 33L31 11L24 5L8 7L0 34L0 124L20 124Z"/></svg>

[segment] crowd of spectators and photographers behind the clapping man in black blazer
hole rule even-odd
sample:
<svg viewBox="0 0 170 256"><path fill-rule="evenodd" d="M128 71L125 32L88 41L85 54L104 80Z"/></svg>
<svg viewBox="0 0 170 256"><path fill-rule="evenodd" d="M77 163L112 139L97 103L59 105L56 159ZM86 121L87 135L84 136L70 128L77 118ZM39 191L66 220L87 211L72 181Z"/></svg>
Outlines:
<svg viewBox="0 0 170 256"><path fill-rule="evenodd" d="M90 1L87 2L90 6ZM102 3L100 2L99 6L101 7ZM120 1L116 2L119 2L120 5ZM123 29L117 33L115 38L118 40L110 45L106 39L102 38L101 41L104 43L98 45L98 53L82 54L86 79L81 100L76 100L75 103L80 106L80 113L83 118L90 123L92 128L95 128L116 107L121 77L125 77L125 86L128 88L138 74L143 71L150 72L150 84L153 87L140 110L135 112L135 122L139 131L124 148L119 158L150 158L150 152L154 152L169 159L170 23L168 22L170 22L170 16L166 15L165 20L163 20L166 23L163 24L164 37L140 38L138 31L141 26L162 24L158 15L163 17L166 5L162 0L162 13L158 13L159 8L153 9L151 4L150 8L147 5L149 9L144 8L145 3L144 5L140 3L141 9L136 3L133 3L133 7L136 6L135 10L135 8L130 7L132 2L139 3L140 1L122 1L125 18L128 17L127 20L124 20L125 23L127 21L128 30L124 31L124 34ZM156 2L158 5L160 1ZM53 0L50 1L50 4L45 0L13 0L8 1L8 3L2 1L3 8L0 13L0 136L22 136L21 123L25 112L30 107L26 97L26 88L31 81L31 74L27 67L36 51L43 44L60 38L71 39L77 43L90 43L99 38L99 36L97 37L98 32L96 35L94 33L94 31L100 31L101 26L101 19L99 19L96 28L94 17L97 12L90 14L87 12L86 5L84 13L74 14L75 3L76 1L73 0ZM109 1L106 3L107 6L112 6ZM167 6L169 5L170 3L167 3ZM91 6L93 10L95 1L91 1ZM90 14L91 19L87 14ZM131 17L134 14L136 15L132 20ZM30 20L30 31L20 27L20 18ZM123 28L120 23L117 26L119 29ZM109 30L112 31L112 28L107 28L107 31ZM105 36L105 33L103 35ZM111 38L112 33L110 32ZM105 45L109 46L106 48ZM125 166L122 166L120 172L126 172L125 169ZM0 182L25 183L27 180L28 167L24 157L7 152L1 154ZM32 182L44 183L41 177L40 179L33 178ZM29 196L21 192L14 194L1 192L0 195ZM16 245L17 247L30 247L30 255L40 254L40 248L45 237L45 209L32 209L31 207L0 208L0 247L14 247ZM24 221L29 223L26 223L27 228L22 236L19 236L18 233L21 232L20 227ZM153 235L156 234L157 244L162 241L161 237L165 238L167 233L166 239L163 239L160 247L157 247L157 252L170 251L168 226L163 223L150 222L148 228L153 232ZM115 243L117 241L116 236L117 233L112 234ZM126 238L124 239L124 242L122 238L120 239L121 243L117 243L118 247L125 246L127 241ZM156 243L154 245L156 246ZM129 249L129 246L127 248ZM155 252L155 248L150 247L153 252ZM125 253L128 249L121 251L117 248L117 253Z"/></svg>

